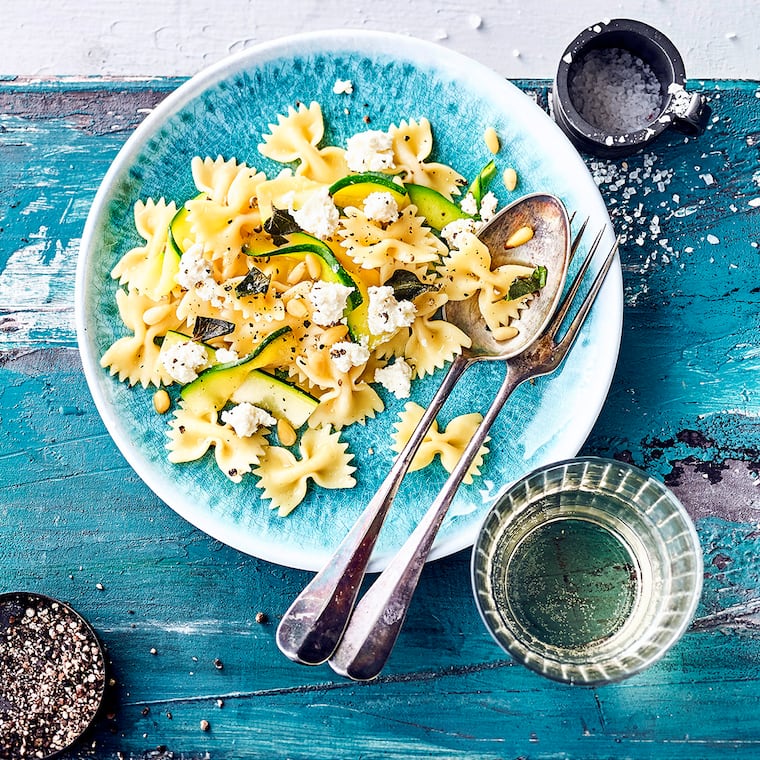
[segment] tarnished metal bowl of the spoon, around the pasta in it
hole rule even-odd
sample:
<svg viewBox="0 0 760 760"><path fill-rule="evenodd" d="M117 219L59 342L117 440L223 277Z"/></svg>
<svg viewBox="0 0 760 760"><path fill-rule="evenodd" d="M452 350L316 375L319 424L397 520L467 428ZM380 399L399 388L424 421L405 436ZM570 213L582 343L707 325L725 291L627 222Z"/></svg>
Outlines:
<svg viewBox="0 0 760 760"><path fill-rule="evenodd" d="M511 247L510 240L523 227L529 227L533 237ZM564 204L556 196L535 193L505 206L480 230L478 238L488 247L492 269L505 264L546 267L546 285L513 323L518 333L508 340L496 340L488 329L480 314L477 296L450 301L444 306L446 321L472 339L465 353L470 361L510 359L533 343L557 308L570 260L570 220Z"/></svg>

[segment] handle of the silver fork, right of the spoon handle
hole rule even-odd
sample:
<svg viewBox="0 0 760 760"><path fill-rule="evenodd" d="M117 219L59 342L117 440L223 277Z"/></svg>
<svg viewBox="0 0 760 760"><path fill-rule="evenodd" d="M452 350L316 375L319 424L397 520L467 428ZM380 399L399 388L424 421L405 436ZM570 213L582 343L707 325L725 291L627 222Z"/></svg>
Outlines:
<svg viewBox="0 0 760 760"><path fill-rule="evenodd" d="M369 681L383 669L406 618L425 560L454 494L488 435L502 406L526 378L507 369L499 392L462 457L419 525L370 587L348 622L330 667L355 681Z"/></svg>

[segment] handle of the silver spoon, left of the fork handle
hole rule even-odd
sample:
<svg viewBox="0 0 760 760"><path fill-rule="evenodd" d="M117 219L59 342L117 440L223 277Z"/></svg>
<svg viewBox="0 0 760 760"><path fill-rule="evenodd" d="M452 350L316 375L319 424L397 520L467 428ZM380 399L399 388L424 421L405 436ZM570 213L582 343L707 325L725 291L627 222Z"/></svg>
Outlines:
<svg viewBox="0 0 760 760"><path fill-rule="evenodd" d="M338 646L356 602L372 549L385 516L409 465L470 360L457 356L449 366L440 388L396 458L378 492L328 560L293 604L277 627L277 646L294 662L319 665Z"/></svg>

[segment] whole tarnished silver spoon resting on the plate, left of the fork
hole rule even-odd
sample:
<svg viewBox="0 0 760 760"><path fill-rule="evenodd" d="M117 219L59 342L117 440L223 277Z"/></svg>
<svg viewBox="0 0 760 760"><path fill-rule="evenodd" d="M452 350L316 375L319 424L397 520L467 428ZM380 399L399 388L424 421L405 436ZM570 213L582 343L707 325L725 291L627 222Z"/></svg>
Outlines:
<svg viewBox="0 0 760 760"><path fill-rule="evenodd" d="M510 237L525 226L533 230L533 237L519 248L507 248ZM295 662L319 665L338 647L385 516L428 428L464 371L476 362L504 361L524 351L541 335L557 308L570 259L570 221L558 198L543 193L525 196L502 209L478 237L488 246L492 268L506 263L544 266L546 285L523 310L517 336L506 341L495 340L486 329L472 303L475 299L447 304L447 320L458 325L472 345L452 361L412 436L353 528L282 617L277 646Z"/></svg>

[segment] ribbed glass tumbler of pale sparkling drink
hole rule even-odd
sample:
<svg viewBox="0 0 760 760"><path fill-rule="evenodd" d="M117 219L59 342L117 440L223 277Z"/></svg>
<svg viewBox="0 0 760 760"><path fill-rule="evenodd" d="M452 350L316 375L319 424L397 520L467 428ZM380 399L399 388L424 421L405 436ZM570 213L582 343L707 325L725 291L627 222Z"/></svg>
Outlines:
<svg viewBox="0 0 760 760"><path fill-rule="evenodd" d="M586 457L503 492L472 555L478 609L496 641L549 678L598 685L656 662L702 591L694 524L631 465Z"/></svg>

